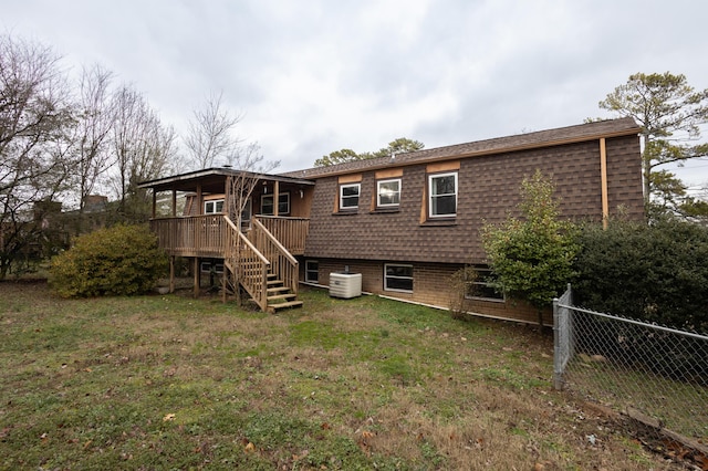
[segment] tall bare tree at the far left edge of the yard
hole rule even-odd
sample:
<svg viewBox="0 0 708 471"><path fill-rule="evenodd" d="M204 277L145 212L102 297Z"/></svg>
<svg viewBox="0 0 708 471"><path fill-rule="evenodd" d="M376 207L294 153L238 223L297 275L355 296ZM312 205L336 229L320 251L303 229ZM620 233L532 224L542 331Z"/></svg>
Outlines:
<svg viewBox="0 0 708 471"><path fill-rule="evenodd" d="M32 206L66 184L73 126L59 56L0 35L0 279L37 238Z"/></svg>

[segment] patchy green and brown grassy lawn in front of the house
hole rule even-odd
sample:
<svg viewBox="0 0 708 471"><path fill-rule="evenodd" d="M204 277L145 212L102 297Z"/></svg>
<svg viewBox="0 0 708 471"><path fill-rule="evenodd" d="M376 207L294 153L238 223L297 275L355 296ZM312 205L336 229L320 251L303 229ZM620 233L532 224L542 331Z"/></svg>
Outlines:
<svg viewBox="0 0 708 471"><path fill-rule="evenodd" d="M0 469L674 469L552 390L534 327L302 297L0 283Z"/></svg>

